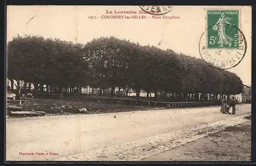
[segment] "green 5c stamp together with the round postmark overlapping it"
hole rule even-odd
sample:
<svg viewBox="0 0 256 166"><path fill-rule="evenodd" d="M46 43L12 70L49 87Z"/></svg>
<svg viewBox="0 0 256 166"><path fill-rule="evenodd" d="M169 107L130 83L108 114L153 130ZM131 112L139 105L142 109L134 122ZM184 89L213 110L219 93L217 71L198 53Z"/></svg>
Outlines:
<svg viewBox="0 0 256 166"><path fill-rule="evenodd" d="M200 38L199 52L211 67L230 69L244 58L247 43L239 29L239 14L239 10L207 11L207 30Z"/></svg>

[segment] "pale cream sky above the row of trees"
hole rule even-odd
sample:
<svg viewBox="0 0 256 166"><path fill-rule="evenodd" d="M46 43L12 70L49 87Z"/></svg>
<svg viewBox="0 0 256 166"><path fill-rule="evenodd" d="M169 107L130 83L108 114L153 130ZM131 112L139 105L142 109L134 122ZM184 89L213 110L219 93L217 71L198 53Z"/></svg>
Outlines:
<svg viewBox="0 0 256 166"><path fill-rule="evenodd" d="M7 42L17 34L39 35L78 43L87 43L101 36L115 36L141 45L169 48L187 56L201 58L199 40L206 29L206 10L220 8L240 10L240 29L247 41L247 51L241 63L228 71L236 73L243 84L250 86L251 7L249 6L173 6L172 10L161 18L153 18L153 15L147 13L114 13L115 10L138 13L141 11L139 6L8 6ZM146 18L104 18L135 15ZM168 16L175 18L169 19Z"/></svg>

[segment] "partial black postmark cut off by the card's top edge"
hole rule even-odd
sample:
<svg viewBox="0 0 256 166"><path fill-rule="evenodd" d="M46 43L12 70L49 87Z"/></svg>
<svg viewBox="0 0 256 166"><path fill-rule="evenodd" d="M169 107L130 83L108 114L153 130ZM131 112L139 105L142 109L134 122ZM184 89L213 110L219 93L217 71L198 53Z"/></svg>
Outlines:
<svg viewBox="0 0 256 166"><path fill-rule="evenodd" d="M140 8L148 14L164 15L172 10L172 6L140 6Z"/></svg>

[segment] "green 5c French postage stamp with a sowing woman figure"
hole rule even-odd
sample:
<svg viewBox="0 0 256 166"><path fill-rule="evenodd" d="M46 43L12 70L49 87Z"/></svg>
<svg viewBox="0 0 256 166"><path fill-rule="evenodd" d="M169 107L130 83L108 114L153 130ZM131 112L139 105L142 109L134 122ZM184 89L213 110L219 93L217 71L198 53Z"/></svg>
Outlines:
<svg viewBox="0 0 256 166"><path fill-rule="evenodd" d="M207 11L207 47L238 48L239 10Z"/></svg>

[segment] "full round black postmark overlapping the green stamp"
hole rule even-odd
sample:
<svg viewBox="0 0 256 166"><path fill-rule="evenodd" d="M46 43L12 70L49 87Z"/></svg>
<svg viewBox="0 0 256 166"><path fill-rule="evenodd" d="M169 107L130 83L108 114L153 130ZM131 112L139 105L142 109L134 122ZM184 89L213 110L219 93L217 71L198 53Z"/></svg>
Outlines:
<svg viewBox="0 0 256 166"><path fill-rule="evenodd" d="M237 66L244 58L246 49L247 43L242 31L227 23L210 26L199 41L200 56L206 64L216 69Z"/></svg>

